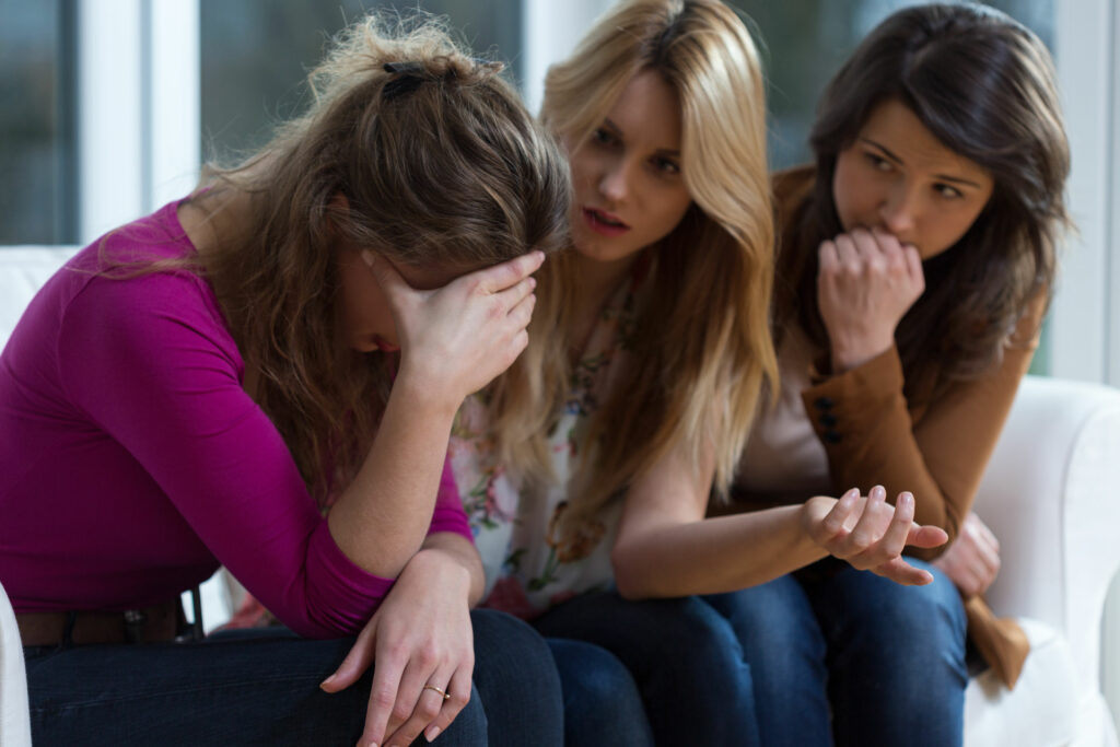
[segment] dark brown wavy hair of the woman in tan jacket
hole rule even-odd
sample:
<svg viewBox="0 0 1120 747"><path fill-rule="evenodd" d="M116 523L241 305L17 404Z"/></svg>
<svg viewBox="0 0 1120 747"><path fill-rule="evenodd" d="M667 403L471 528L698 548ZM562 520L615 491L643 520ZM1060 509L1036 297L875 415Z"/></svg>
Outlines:
<svg viewBox="0 0 1120 747"><path fill-rule="evenodd" d="M926 260L926 290L895 339L908 398L932 399L997 365L1032 299L1054 287L1068 225L1070 148L1049 54L1033 32L978 4L900 10L832 78L810 142L816 181L784 226L775 334L796 323L821 347L818 248L843 232L832 196L838 153L887 100L905 104L949 149L988 169L995 189L969 231ZM1021 342L1021 340L1011 340Z"/></svg>

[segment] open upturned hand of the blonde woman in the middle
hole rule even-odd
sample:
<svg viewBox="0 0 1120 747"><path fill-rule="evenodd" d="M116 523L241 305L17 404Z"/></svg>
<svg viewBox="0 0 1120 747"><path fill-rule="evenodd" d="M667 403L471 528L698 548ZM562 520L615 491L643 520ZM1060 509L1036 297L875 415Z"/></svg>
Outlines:
<svg viewBox="0 0 1120 747"><path fill-rule="evenodd" d="M937 526L914 523L914 496L900 493L892 506L883 486L861 496L852 488L837 501L816 496L802 507L802 526L816 544L859 570L869 570L907 586L933 581L928 571L903 558L907 544L935 548L949 535Z"/></svg>

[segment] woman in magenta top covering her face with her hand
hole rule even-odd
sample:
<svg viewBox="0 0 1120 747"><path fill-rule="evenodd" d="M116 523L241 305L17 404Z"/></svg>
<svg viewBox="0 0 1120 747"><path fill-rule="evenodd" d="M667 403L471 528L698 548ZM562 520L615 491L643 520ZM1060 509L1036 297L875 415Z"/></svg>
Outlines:
<svg viewBox="0 0 1120 747"><path fill-rule="evenodd" d="M0 357L0 581L37 743L559 743L541 636L469 613L445 467L567 230L563 158L498 67L355 24L305 114L31 302ZM178 641L220 564L290 632Z"/></svg>

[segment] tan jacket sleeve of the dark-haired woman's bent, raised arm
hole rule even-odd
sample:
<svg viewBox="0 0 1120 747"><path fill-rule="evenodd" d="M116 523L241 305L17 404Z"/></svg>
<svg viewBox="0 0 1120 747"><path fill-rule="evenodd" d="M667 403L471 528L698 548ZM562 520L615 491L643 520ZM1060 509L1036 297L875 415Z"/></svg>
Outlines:
<svg viewBox="0 0 1120 747"><path fill-rule="evenodd" d="M895 347L802 392L838 494L883 485L893 502L898 493L909 491L915 521L941 526L952 542L1030 365L1044 309L1042 293L1004 348L999 367L953 385L917 420L903 394L902 362ZM931 559L946 547L913 554Z"/></svg>

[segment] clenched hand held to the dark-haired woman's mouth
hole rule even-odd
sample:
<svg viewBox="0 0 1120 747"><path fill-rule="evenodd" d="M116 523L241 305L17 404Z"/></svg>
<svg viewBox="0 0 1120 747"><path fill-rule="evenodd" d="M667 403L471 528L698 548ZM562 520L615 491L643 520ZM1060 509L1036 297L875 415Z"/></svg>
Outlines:
<svg viewBox="0 0 1120 747"><path fill-rule="evenodd" d="M879 228L840 234L818 251L818 308L833 372L843 373L894 344L895 328L925 290L922 259Z"/></svg>

